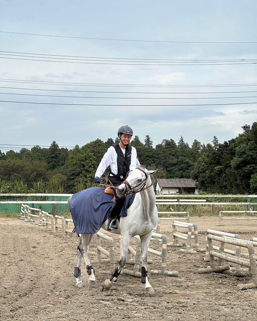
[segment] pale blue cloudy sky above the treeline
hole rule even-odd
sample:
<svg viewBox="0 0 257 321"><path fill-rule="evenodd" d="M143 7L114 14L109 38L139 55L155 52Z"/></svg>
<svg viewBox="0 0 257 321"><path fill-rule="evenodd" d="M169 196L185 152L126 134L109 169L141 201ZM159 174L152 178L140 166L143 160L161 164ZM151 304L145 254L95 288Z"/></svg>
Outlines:
<svg viewBox="0 0 257 321"><path fill-rule="evenodd" d="M115 139L121 125L131 126L142 142L149 135L154 145L163 139L178 142L180 136L189 145L194 139L210 143L214 135L220 143L235 138L243 132L241 126L257 118L257 64L231 61L257 59L256 9L256 1L236 0L0 0L0 31L5 31L0 32L0 86L5 87L0 88L0 100L18 102L0 102L0 150L14 149L10 144L49 146L52 141L83 146L97 138ZM33 59L22 58L31 56L26 53L37 54L38 60L49 60L43 55L62 57L22 60ZM63 56L123 59L114 65ZM129 65L128 59L137 65ZM156 59L166 59L166 65ZM189 59L229 62L171 62Z"/></svg>

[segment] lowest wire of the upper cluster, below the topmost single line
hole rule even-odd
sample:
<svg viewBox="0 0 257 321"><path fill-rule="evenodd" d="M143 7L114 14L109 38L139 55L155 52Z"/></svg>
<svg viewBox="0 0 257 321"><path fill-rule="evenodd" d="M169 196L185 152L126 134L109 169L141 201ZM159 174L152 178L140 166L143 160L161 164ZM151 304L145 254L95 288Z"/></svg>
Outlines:
<svg viewBox="0 0 257 321"><path fill-rule="evenodd" d="M29 61L48 61L48 62L62 62L68 64L93 64L93 65L129 65L129 66L181 66L181 64L117 64L117 63L102 63L102 62L81 62L81 61L59 61L59 60L43 60L43 59L27 59L27 58L12 58L12 57L0 57L1 59L16 59L16 60L29 60ZM211 65L250 65L257 64L257 62L246 63L232 63L232 64L183 64L183 66L211 66Z"/></svg>

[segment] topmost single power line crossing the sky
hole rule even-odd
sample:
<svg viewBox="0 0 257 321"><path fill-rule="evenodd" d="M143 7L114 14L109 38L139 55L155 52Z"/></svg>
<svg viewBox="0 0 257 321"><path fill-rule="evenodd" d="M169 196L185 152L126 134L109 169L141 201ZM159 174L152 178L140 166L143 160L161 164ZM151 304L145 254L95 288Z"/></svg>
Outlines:
<svg viewBox="0 0 257 321"><path fill-rule="evenodd" d="M2 33L12 33L18 35L31 35L31 36L44 36L44 37L58 37L58 38L74 38L74 39L89 39L89 40L111 40L111 41L136 41L136 42L165 42L165 43L257 43L256 41L167 41L167 40L134 40L134 39L109 39L109 38L89 38L89 37L72 37L72 36L58 36L58 35L45 35L38 33L25 33L25 32L11 32L0 31Z"/></svg>

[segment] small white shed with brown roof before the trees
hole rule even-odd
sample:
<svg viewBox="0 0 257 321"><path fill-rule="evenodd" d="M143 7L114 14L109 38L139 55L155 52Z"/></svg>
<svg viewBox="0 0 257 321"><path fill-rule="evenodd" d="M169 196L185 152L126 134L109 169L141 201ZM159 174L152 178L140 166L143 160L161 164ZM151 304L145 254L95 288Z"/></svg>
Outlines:
<svg viewBox="0 0 257 321"><path fill-rule="evenodd" d="M192 178L157 178L156 194L197 194L196 181Z"/></svg>

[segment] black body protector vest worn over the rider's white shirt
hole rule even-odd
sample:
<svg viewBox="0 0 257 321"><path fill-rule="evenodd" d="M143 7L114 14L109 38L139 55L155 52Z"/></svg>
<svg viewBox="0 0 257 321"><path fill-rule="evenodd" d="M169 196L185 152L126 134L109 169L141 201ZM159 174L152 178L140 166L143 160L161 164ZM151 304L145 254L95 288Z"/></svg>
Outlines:
<svg viewBox="0 0 257 321"><path fill-rule="evenodd" d="M132 147L130 145L126 146L125 150L125 157L123 155L123 152L120 148L119 144L113 145L116 153L117 153L117 167L118 167L118 173L114 174L112 171L110 171L110 174L113 176L108 176L112 184L122 183L127 175L127 172L129 171L129 166L131 162L131 151Z"/></svg>

